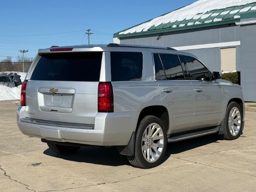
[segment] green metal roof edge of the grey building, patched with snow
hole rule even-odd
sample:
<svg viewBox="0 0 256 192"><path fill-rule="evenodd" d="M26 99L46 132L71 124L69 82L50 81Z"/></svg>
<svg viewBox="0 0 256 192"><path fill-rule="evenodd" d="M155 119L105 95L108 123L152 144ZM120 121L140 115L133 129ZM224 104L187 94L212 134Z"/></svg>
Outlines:
<svg viewBox="0 0 256 192"><path fill-rule="evenodd" d="M243 18L256 17L256 3L250 3L242 6L227 7L219 10L211 10L204 14L198 13L192 19L184 19L182 21L162 23L158 26L151 26L147 31L133 32L128 34L120 34L128 29L122 30L114 34L114 38L123 38L129 36L140 36L147 34L158 34L164 32L172 32L178 30L188 30L192 28L203 28L208 26L216 26L222 24L230 24L239 22ZM151 20L148 20L151 21ZM148 22L146 21L146 22ZM144 24L145 22L141 23ZM140 24L136 25L139 26ZM133 26L135 27L135 26ZM133 28L131 27L131 28Z"/></svg>

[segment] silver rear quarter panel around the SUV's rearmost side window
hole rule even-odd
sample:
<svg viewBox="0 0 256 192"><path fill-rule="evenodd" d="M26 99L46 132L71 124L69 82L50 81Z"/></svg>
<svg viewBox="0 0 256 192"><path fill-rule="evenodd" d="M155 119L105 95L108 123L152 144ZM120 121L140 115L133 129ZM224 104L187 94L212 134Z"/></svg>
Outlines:
<svg viewBox="0 0 256 192"><path fill-rule="evenodd" d="M125 48L112 51L136 51L143 53L142 80L112 82L114 112L134 112L133 127L136 130L138 117L143 108L162 105L158 83L154 81L152 52L150 49Z"/></svg>

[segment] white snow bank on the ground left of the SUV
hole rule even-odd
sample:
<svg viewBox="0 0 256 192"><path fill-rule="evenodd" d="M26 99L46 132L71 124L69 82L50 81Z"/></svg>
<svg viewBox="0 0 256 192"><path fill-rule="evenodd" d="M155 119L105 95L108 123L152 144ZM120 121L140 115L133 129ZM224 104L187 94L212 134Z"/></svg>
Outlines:
<svg viewBox="0 0 256 192"><path fill-rule="evenodd" d="M21 85L18 87L7 87L0 85L0 101L4 100L19 100Z"/></svg>

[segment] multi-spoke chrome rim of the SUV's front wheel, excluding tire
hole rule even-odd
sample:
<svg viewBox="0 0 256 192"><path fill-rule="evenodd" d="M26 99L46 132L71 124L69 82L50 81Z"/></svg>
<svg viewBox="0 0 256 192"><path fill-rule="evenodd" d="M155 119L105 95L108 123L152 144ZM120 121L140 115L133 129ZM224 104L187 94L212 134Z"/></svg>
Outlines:
<svg viewBox="0 0 256 192"><path fill-rule="evenodd" d="M233 107L230 110L228 116L228 128L232 136L236 136L241 127L241 114L237 107Z"/></svg>

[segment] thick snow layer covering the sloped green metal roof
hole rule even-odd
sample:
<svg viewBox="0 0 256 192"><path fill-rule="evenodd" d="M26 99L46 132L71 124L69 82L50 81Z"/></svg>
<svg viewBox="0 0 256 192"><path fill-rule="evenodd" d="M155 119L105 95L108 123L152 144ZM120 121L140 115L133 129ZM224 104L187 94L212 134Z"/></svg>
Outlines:
<svg viewBox="0 0 256 192"><path fill-rule="evenodd" d="M239 7L239 6L243 6L243 5L254 3L254 2L256 2L256 0L198 0L178 10L174 10L165 15L156 17L148 22L144 22L130 29L124 30L119 34L121 35L121 34L135 33L135 32L145 32L152 27L157 27L160 24L167 24L167 23L173 23L171 26L169 26L173 28L177 26L181 27L185 25L193 25L193 24L198 24L202 22L204 23L217 22L217 21L220 21L220 18L213 18L213 17L216 17L216 16L219 17L219 15L223 17L226 14L230 14L230 15L236 14L238 11L240 13L243 13L243 12L247 12L250 9L255 10L255 5L253 7L252 6ZM230 8L230 7L235 7L235 8L234 10L232 9L225 10L226 8ZM219 11L211 12L213 10L219 10ZM239 15L235 15L232 17L240 18L240 16L239 17L238 16ZM192 21L189 21L189 20L192 20Z"/></svg>

